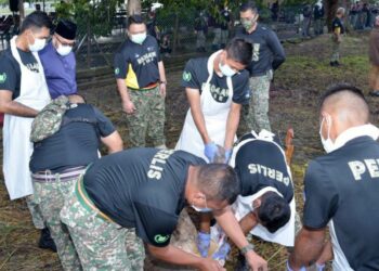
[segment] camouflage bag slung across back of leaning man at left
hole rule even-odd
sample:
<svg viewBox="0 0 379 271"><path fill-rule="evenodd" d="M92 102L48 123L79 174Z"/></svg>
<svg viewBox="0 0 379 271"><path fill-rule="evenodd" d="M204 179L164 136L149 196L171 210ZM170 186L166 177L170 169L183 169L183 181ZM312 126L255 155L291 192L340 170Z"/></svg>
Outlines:
<svg viewBox="0 0 379 271"><path fill-rule="evenodd" d="M63 115L69 108L68 98L58 96L44 106L31 124L30 141L39 142L57 132Z"/></svg>

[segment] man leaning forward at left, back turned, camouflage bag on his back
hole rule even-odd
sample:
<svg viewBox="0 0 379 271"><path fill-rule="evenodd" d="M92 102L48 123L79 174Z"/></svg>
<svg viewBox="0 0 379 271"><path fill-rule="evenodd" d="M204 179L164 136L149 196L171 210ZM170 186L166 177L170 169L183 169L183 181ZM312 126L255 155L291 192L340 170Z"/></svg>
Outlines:
<svg viewBox="0 0 379 271"><path fill-rule="evenodd" d="M35 202L56 244L64 270L80 270L81 264L60 211L84 168L99 157L100 141L109 153L122 150L122 140L99 109L83 104L79 95L69 96L71 106L63 116L60 130L35 143L30 159ZM34 129L45 128L45 121ZM32 131L34 134L34 131Z"/></svg>

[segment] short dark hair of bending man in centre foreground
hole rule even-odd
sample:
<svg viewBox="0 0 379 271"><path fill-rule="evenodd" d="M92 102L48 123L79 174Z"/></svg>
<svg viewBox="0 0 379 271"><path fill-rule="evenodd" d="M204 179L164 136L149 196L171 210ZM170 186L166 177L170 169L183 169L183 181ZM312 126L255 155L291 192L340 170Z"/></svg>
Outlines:
<svg viewBox="0 0 379 271"><path fill-rule="evenodd" d="M239 179L226 164L199 166L196 185L209 201L226 201L232 204L239 194Z"/></svg>

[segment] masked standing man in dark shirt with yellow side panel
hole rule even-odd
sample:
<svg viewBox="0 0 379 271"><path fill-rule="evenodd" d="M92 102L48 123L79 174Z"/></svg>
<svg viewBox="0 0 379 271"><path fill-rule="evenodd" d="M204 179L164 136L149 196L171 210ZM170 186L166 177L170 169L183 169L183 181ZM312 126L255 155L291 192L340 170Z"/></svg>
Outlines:
<svg viewBox="0 0 379 271"><path fill-rule="evenodd" d="M128 39L115 55L115 76L127 114L130 146L165 147L166 74L154 37L146 35L140 15L128 20Z"/></svg>

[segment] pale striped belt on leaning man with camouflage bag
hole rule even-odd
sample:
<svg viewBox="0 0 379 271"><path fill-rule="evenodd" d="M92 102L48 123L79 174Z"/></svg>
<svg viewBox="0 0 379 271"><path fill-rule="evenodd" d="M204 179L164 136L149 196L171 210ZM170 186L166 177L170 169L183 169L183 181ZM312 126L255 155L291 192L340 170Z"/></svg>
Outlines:
<svg viewBox="0 0 379 271"><path fill-rule="evenodd" d="M50 169L47 169L32 173L31 178L35 182L56 181L57 177L60 178L60 181L69 181L73 180L73 178L79 177L81 173L83 173L84 169L84 166L67 168L61 172L53 172Z"/></svg>

